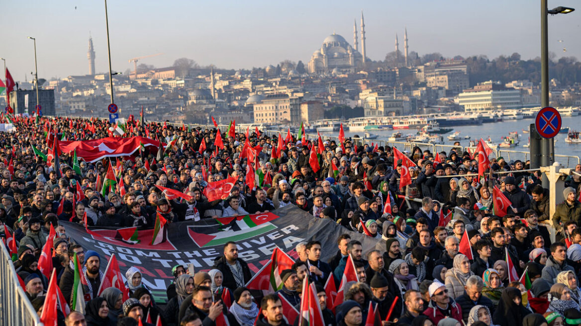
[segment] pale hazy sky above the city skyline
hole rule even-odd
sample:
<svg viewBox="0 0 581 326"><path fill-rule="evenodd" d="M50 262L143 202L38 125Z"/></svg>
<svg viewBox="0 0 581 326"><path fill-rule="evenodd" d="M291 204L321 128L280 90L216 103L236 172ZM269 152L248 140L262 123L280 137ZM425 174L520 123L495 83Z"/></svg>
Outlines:
<svg viewBox="0 0 581 326"><path fill-rule="evenodd" d="M549 8L578 6L568 15L549 16L549 50L581 59L581 5L549 1ZM164 53L140 63L171 66L180 57L223 68L307 63L335 31L351 44L353 20L365 15L367 56L383 60L407 27L410 51L444 56L521 53L540 56L539 0L444 1L130 1L110 0L109 32L113 70L132 69L132 57ZM34 71L37 38L39 78L88 74L91 32L96 71L105 72L107 42L103 1L3 1L0 57L13 77ZM562 42L558 42L562 40ZM361 40L360 40L361 42ZM566 48L566 52L563 49ZM1 63L0 63L1 64ZM3 76L2 76L3 77Z"/></svg>

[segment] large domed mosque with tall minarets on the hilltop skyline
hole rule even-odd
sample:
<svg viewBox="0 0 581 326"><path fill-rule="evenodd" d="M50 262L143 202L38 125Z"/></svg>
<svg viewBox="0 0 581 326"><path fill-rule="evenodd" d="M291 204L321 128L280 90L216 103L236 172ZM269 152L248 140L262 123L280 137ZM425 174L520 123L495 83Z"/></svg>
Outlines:
<svg viewBox="0 0 581 326"><path fill-rule="evenodd" d="M361 12L361 52L357 48L357 23L353 24L353 46L341 35L333 33L324 39L309 61L311 74L353 73L365 66L365 24Z"/></svg>

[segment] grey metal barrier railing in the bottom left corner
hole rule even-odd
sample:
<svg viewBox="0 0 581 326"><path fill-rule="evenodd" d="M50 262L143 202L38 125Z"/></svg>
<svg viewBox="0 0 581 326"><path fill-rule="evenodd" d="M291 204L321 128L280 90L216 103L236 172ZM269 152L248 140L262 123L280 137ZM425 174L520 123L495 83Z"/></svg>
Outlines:
<svg viewBox="0 0 581 326"><path fill-rule="evenodd" d="M0 243L0 324L42 326L33 305L20 286L6 246Z"/></svg>

